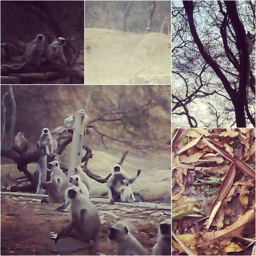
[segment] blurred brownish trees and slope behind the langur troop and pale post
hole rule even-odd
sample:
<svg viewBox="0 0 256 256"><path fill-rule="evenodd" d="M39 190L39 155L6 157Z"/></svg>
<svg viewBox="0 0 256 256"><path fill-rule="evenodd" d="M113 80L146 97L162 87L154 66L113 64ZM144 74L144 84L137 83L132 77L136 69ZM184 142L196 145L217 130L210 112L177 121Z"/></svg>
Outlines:
<svg viewBox="0 0 256 256"><path fill-rule="evenodd" d="M2 86L1 96L8 90ZM24 132L32 146L44 127L63 125L64 118L88 109L90 146L112 149L166 148L170 140L170 86L13 86L14 134ZM6 130L10 129L10 102Z"/></svg>

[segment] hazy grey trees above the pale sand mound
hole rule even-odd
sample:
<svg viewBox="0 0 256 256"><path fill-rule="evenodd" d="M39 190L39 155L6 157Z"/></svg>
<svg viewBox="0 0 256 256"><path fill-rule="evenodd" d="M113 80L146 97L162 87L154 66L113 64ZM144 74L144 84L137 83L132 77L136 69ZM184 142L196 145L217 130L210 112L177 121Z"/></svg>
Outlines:
<svg viewBox="0 0 256 256"><path fill-rule="evenodd" d="M170 1L86 1L85 27L144 33L150 26L150 32L160 32L170 12Z"/></svg>

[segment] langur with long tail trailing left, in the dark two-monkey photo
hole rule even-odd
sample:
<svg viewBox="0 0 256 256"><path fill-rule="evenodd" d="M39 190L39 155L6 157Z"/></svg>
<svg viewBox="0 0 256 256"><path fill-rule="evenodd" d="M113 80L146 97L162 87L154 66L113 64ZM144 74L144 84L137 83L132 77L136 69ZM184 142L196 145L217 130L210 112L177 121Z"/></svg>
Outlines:
<svg viewBox="0 0 256 256"><path fill-rule="evenodd" d="M17 68L12 68L8 65L2 65L5 67L8 67L12 70L20 70L23 68L26 64L32 63L36 64L36 66L40 66L42 62L42 53L44 52L44 36L42 34L38 34L36 38L30 42L27 47L24 54L25 62L18 66Z"/></svg>

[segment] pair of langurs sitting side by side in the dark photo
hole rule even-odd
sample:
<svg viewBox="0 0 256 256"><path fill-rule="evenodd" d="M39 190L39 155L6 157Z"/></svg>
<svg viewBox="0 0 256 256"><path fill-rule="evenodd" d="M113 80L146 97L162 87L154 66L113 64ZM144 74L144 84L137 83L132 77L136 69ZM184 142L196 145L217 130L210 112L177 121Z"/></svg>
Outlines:
<svg viewBox="0 0 256 256"><path fill-rule="evenodd" d="M25 61L20 66L13 68L12 66L2 65L11 70L20 70L26 64L35 64L40 67L42 64L42 58L45 56L46 62L51 64L67 65L68 62L63 52L63 46L66 39L59 37L49 44L45 50L45 38L44 35L38 34L34 40L32 40L26 47L24 58Z"/></svg>

